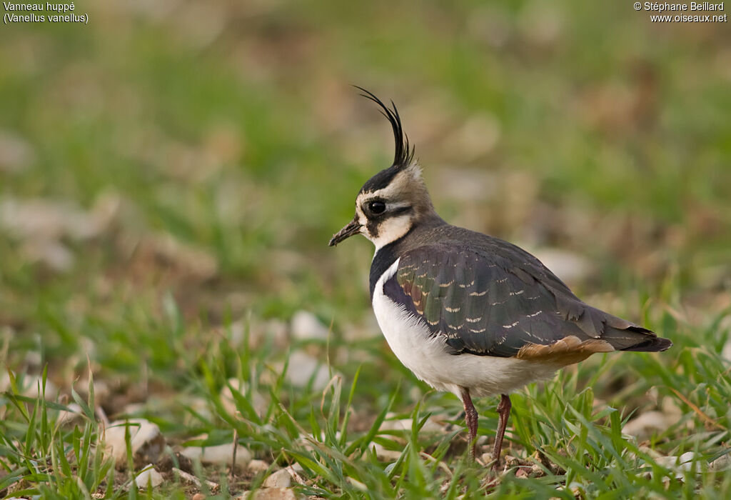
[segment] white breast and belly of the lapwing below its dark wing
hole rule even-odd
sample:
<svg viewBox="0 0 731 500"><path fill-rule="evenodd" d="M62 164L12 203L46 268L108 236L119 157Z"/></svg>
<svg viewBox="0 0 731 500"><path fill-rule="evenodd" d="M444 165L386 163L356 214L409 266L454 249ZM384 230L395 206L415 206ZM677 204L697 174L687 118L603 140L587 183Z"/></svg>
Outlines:
<svg viewBox="0 0 731 500"><path fill-rule="evenodd" d="M472 396L482 397L511 393L529 382L550 379L556 372L556 365L514 357L450 355L444 346L444 338L430 338L430 331L423 321L384 295L383 284L397 268L398 260L376 283L373 310L396 357L431 387L458 396L460 387L466 387Z"/></svg>

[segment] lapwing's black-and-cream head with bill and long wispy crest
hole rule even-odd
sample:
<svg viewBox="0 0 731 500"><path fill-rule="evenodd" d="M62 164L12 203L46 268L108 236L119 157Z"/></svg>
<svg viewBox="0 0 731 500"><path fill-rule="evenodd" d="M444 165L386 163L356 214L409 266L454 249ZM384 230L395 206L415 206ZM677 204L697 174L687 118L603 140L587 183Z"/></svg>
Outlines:
<svg viewBox="0 0 731 500"><path fill-rule="evenodd" d="M355 216L330 240L335 246L352 235L361 234L371 240L376 250L406 235L418 221L436 216L431 198L414 161L414 148L409 145L401 126L401 117L391 102L387 107L374 94L359 88L371 99L391 124L395 141L393 164L368 179L355 198Z"/></svg>

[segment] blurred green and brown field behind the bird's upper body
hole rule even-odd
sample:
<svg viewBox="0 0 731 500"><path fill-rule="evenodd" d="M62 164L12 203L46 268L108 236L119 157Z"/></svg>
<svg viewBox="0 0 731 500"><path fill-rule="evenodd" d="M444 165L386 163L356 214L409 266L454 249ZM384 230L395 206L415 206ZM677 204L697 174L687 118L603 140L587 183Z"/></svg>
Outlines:
<svg viewBox="0 0 731 500"><path fill-rule="evenodd" d="M727 23L629 2L75 7L87 25L0 27L0 340L18 373L50 363L64 387L88 356L189 387L212 329L301 310L336 340L378 336L371 243L327 248L393 157L351 85L398 105L448 221L630 319L731 307Z"/></svg>

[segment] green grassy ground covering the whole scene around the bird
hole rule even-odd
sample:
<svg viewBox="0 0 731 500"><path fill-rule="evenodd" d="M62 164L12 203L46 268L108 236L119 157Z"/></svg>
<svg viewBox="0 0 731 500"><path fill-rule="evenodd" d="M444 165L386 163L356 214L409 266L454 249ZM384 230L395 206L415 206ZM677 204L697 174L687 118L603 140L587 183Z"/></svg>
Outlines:
<svg viewBox="0 0 731 500"><path fill-rule="evenodd" d="M708 467L731 416L724 26L571 1L254 4L84 2L88 26L0 29L0 496L192 495L167 473L128 490L139 464L115 471L99 409L153 421L172 451L238 439L325 498L730 496ZM395 100L445 218L586 257L582 298L675 343L513 395L498 482L464 460L459 401L372 322L370 243L325 246L392 156L350 84ZM485 123L492 148L467 126ZM475 173L488 194L450 194ZM52 227L7 215L31 200ZM79 214L106 222L79 235ZM59 246L67 265L49 263ZM300 310L332 324L327 343L276 335ZM300 351L325 390L288 382ZM71 404L80 420L60 423ZM477 405L488 444L495 404ZM623 436L654 410L672 425ZM453 425L420 433L430 415ZM689 470L664 459L687 452ZM220 498L267 475L194 471Z"/></svg>

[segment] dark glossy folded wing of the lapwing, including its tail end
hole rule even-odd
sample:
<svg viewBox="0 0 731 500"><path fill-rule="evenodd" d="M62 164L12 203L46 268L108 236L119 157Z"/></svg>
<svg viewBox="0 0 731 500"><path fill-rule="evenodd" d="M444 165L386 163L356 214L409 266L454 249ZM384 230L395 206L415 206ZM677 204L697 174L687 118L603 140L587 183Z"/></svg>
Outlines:
<svg viewBox="0 0 731 500"><path fill-rule="evenodd" d="M420 246L401 256L384 293L444 338L455 355L539 359L558 351L573 353L567 358L573 363L592 352L672 345L588 306L535 257L507 246L501 240L469 248Z"/></svg>

